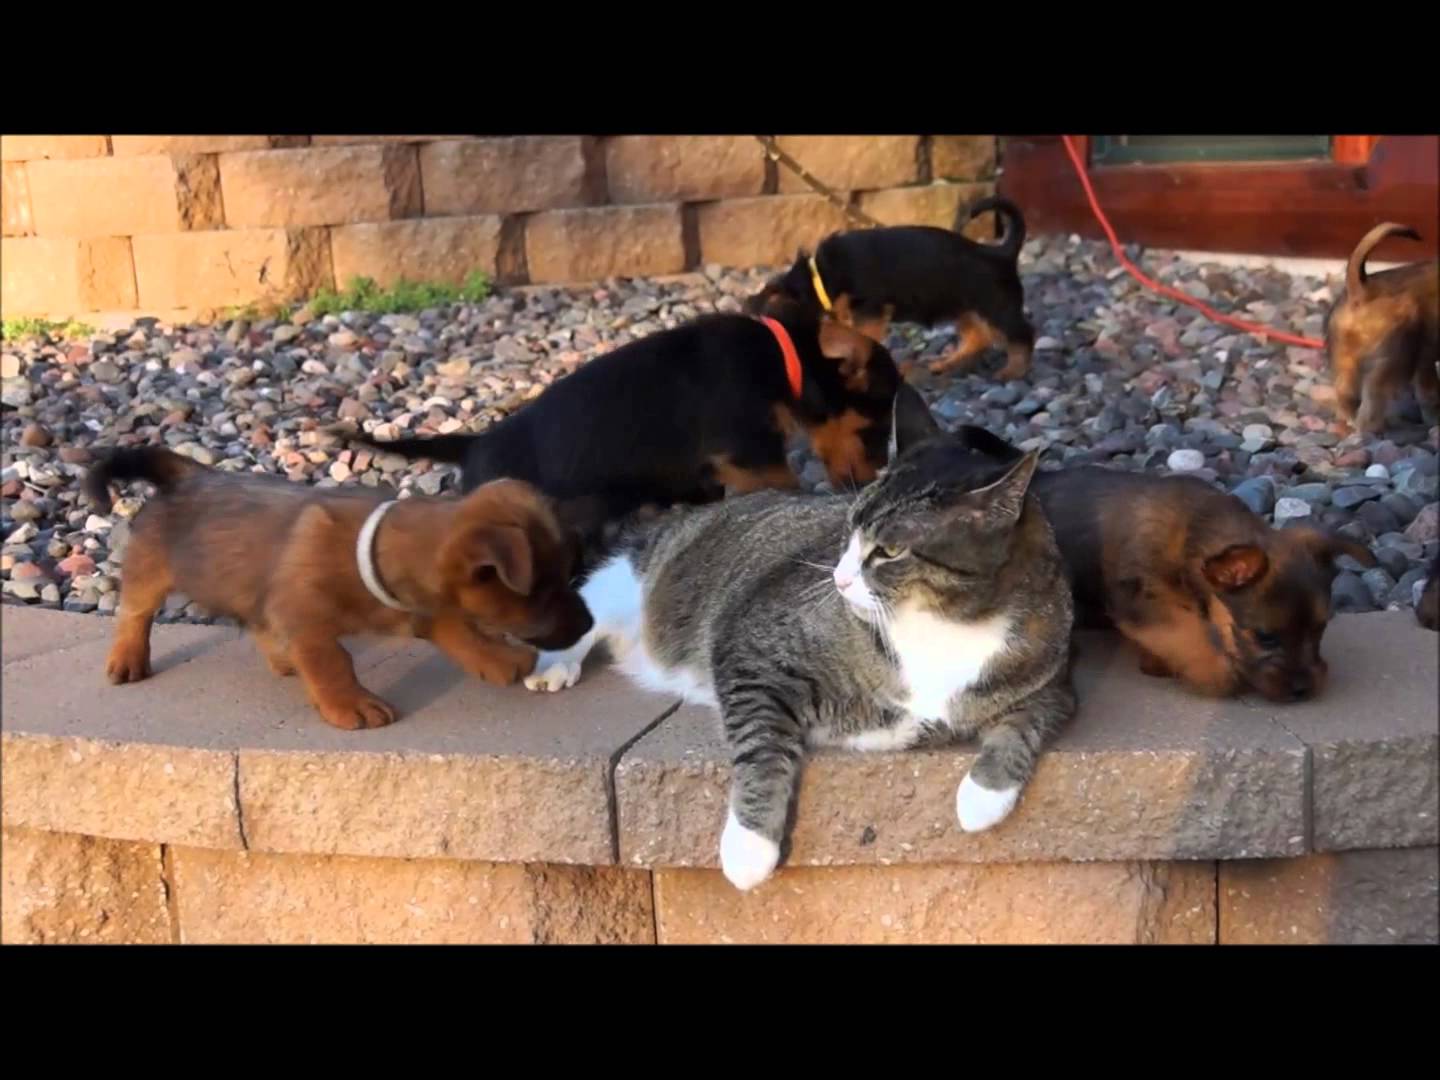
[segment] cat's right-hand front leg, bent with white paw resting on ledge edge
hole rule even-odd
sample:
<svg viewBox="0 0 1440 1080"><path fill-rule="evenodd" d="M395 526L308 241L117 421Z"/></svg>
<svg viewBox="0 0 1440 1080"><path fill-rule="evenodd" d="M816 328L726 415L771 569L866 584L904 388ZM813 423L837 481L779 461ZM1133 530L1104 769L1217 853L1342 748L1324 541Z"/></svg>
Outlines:
<svg viewBox="0 0 1440 1080"><path fill-rule="evenodd" d="M1068 680L1057 680L985 729L979 756L955 792L962 829L981 832L1009 816L1040 752L1074 710Z"/></svg>

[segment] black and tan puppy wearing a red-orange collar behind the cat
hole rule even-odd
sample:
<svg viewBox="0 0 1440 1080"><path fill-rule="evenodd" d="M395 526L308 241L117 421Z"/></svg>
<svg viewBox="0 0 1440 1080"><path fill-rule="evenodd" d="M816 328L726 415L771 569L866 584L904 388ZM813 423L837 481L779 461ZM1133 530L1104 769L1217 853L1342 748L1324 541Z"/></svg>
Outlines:
<svg viewBox="0 0 1440 1080"><path fill-rule="evenodd" d="M899 386L884 346L832 318L704 315L596 357L480 435L361 441L458 464L465 491L524 480L589 508L596 527L645 505L795 487L795 431L832 484L865 484L884 464Z"/></svg>

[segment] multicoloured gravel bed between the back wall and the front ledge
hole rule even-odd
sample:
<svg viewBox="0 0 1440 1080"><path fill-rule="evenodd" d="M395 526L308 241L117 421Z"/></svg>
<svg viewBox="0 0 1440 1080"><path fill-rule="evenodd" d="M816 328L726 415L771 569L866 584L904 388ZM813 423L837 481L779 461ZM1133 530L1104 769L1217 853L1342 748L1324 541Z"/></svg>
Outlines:
<svg viewBox="0 0 1440 1080"><path fill-rule="evenodd" d="M1223 311L1308 337L1336 279L1194 264L1136 249L1140 265ZM1440 549L1437 429L1407 405L1382 439L1336 422L1323 357L1261 344L1146 292L1103 243L1050 238L1021 261L1040 340L1024 382L1001 357L965 377L913 376L945 423L981 423L1056 462L1194 472L1276 524L1305 518L1368 543L1348 559L1338 611L1410 608ZM131 492L111 516L79 495L96 445L164 442L228 471L295 481L393 484L433 494L454 469L347 448L338 431L478 431L593 356L704 311L737 311L759 271L707 269L586 289L531 287L415 315L347 314L276 324L170 327L141 320L88 343L6 341L6 602L112 612ZM950 328L897 327L897 360L937 357ZM1434 418L1430 418L1431 420ZM824 471L792 451L808 487ZM171 598L161 621L207 621Z"/></svg>

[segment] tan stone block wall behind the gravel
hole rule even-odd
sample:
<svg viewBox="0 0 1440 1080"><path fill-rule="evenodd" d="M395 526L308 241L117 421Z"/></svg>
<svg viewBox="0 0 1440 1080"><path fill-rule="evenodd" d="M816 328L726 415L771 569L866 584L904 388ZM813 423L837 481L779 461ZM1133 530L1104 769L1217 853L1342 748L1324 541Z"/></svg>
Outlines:
<svg viewBox="0 0 1440 1080"><path fill-rule="evenodd" d="M780 145L886 223L949 226L994 190L994 135ZM772 265L845 228L750 135L4 135L0 158L6 318Z"/></svg>

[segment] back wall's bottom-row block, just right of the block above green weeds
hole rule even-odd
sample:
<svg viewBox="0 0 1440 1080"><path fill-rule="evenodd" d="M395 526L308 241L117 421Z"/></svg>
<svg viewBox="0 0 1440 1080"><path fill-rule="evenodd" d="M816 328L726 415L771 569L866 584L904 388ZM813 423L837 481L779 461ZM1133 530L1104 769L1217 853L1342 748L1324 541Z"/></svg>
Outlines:
<svg viewBox="0 0 1440 1080"><path fill-rule="evenodd" d="M531 282L678 274L685 268L680 206L549 210L526 222Z"/></svg>

